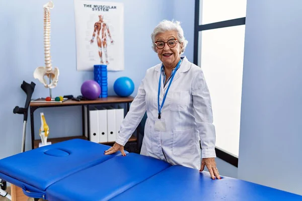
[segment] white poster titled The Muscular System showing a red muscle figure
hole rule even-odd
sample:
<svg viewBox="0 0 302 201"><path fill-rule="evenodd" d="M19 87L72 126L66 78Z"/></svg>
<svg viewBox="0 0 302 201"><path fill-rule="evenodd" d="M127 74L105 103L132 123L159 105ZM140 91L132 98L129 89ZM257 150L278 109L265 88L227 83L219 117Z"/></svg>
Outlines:
<svg viewBox="0 0 302 201"><path fill-rule="evenodd" d="M124 70L122 3L74 0L77 70Z"/></svg>

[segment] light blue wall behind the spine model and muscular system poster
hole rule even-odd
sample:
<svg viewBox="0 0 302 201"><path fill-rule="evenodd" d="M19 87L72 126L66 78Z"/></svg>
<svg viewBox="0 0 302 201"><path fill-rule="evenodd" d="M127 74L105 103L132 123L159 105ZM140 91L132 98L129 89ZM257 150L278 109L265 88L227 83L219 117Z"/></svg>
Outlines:
<svg viewBox="0 0 302 201"><path fill-rule="evenodd" d="M112 0L108 0L112 1ZM26 95L22 81L36 83L33 98L46 97L49 90L33 77L34 70L44 64L43 5L47 1L10 0L0 3L0 159L20 153L23 116L13 114L15 106L24 107ZM152 50L150 34L163 19L171 19L167 10L171 1L116 0L124 3L125 70L108 72L108 94L115 95L114 81L130 77L137 93L145 70L160 62ZM60 71L59 83L52 95L81 95L81 84L93 79L93 71L77 71L75 54L75 22L73 0L53 0L51 10L51 56ZM139 16L139 18L138 18ZM50 138L82 135L81 107L38 109L35 116L35 137L39 139L39 113L44 112ZM26 132L26 150L31 149L30 118Z"/></svg>

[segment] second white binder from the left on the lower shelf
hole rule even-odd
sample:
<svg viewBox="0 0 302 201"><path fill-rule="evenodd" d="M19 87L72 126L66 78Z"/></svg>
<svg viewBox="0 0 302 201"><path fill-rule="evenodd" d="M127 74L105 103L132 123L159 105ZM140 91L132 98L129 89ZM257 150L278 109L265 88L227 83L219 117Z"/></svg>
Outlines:
<svg viewBox="0 0 302 201"><path fill-rule="evenodd" d="M98 129L99 142L108 142L107 133L107 110L104 107L96 107L98 109Z"/></svg>

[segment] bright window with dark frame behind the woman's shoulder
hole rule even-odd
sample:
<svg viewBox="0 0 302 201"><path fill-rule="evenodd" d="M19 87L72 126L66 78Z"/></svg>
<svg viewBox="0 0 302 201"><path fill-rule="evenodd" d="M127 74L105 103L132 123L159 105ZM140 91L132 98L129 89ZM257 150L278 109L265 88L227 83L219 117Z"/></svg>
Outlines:
<svg viewBox="0 0 302 201"><path fill-rule="evenodd" d="M246 0L195 0L194 63L212 99L216 154L238 166Z"/></svg>

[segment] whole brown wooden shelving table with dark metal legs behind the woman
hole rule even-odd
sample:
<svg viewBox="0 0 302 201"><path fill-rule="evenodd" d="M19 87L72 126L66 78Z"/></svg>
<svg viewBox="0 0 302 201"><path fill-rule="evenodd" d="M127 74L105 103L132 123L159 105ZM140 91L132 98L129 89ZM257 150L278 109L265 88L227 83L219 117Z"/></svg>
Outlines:
<svg viewBox="0 0 302 201"><path fill-rule="evenodd" d="M51 107L68 107L68 106L81 106L82 107L82 128L83 128L83 135L82 136L70 136L70 137L62 137L62 138L50 138L48 139L49 141L51 141L52 143L56 143L56 142L61 142L61 141L65 141L65 140L70 140L70 139L74 139L74 138L81 138L81 139L86 139L89 140L89 133L90 133L90 129L89 129L89 110L87 110L87 122L85 121L85 106L89 107L92 105L103 105L103 104L126 104L126 110L127 112L129 112L129 107L130 107L130 103L133 101L133 97L132 96L128 96L128 97L119 97L119 96L108 96L106 98L98 98L96 100L81 100L81 101L77 101L77 100L72 100L72 99L68 99L65 100L62 103L37 103L37 102L31 102L29 105L30 108L30 126L31 126L31 140L32 140L32 149L35 149L39 146L39 142L41 142L41 139L35 139L35 126L34 126L34 112L35 110L37 110L38 108L51 108ZM85 136L85 124L87 124L87 128L88 128L88 138ZM137 150L138 150L138 139L136 139L135 136L132 136L128 142L135 142L137 145ZM102 144L108 144L111 145L114 142L106 142L106 143L102 143ZM136 151L137 151L136 150Z"/></svg>

